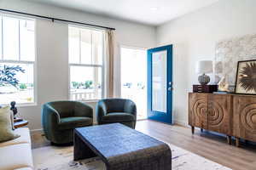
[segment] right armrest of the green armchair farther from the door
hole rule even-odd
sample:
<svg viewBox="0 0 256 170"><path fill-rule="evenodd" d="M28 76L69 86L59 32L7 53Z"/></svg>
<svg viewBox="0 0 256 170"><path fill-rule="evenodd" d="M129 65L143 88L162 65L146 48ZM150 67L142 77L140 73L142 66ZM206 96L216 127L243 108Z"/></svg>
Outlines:
<svg viewBox="0 0 256 170"><path fill-rule="evenodd" d="M76 102L74 108L74 116L86 116L93 117L93 109L90 105L86 105L82 102Z"/></svg>

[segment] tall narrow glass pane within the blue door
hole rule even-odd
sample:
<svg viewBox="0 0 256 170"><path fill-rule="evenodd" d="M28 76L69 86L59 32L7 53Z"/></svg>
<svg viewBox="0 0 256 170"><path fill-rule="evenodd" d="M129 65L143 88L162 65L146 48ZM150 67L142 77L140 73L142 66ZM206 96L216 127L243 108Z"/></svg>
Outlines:
<svg viewBox="0 0 256 170"><path fill-rule="evenodd" d="M167 51L152 54L152 110L166 113Z"/></svg>

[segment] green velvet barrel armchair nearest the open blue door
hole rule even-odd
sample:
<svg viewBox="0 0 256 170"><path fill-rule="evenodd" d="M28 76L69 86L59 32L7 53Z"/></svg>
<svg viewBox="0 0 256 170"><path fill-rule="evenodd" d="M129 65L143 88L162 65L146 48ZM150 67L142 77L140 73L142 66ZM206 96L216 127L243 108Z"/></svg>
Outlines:
<svg viewBox="0 0 256 170"><path fill-rule="evenodd" d="M96 105L96 118L99 124L119 122L135 128L137 108L131 99L102 99Z"/></svg>

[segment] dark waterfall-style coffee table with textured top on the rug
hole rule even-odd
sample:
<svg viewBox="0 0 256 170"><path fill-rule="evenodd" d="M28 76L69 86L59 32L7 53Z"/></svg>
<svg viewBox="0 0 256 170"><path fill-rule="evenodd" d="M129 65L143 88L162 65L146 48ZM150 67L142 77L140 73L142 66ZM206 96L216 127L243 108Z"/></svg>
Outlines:
<svg viewBox="0 0 256 170"><path fill-rule="evenodd" d="M108 170L171 170L169 146L114 123L74 130L74 161L99 156Z"/></svg>

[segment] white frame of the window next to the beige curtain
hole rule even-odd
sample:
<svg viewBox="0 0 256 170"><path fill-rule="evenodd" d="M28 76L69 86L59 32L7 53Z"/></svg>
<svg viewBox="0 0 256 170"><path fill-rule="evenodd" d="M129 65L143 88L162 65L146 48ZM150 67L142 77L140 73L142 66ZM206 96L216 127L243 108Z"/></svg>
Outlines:
<svg viewBox="0 0 256 170"><path fill-rule="evenodd" d="M70 63L70 57L69 57L69 28L70 27L75 27L78 29L85 29L85 30L90 30L90 31L102 31L102 65L95 65L95 64L81 64L81 32L79 31L79 62L80 64L74 64L74 63ZM90 67L90 68L101 68L102 69L102 98L103 99L106 95L106 89L105 89L105 63L106 63L106 59L105 59L105 32L102 29L96 29L94 27L88 27L88 26L78 26L78 25L68 25L67 26L68 29L68 99L71 100L71 67L72 66L81 66L81 67ZM92 36L92 34L91 34ZM81 101L81 102L97 102L99 99L79 99L79 100L75 100L75 101Z"/></svg>

